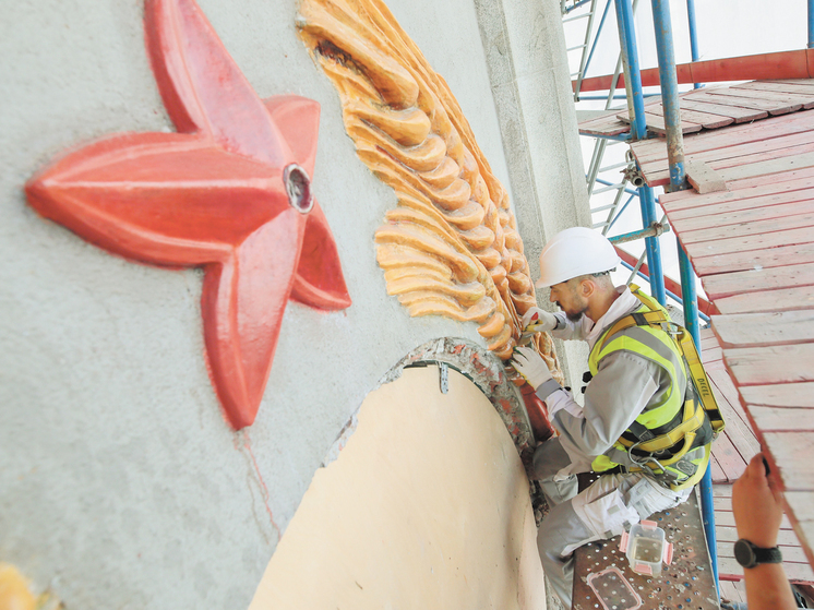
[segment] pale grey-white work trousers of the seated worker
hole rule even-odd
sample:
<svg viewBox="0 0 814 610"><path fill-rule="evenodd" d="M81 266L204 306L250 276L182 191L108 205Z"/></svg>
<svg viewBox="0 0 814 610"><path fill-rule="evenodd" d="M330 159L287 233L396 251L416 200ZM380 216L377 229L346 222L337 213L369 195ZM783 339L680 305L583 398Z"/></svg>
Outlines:
<svg viewBox="0 0 814 610"><path fill-rule="evenodd" d="M671 491L643 475L631 474L604 475L577 493L576 476L559 475L570 464L558 438L535 451L535 475L550 509L537 533L537 547L549 583L566 609L572 607L574 550L619 536L639 519L678 506L692 491Z"/></svg>

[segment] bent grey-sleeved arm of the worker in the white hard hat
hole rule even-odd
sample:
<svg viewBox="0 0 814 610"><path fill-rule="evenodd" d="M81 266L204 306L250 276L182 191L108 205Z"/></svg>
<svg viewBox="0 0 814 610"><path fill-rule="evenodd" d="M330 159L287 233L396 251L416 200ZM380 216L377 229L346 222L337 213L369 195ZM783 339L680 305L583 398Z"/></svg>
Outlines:
<svg viewBox="0 0 814 610"><path fill-rule="evenodd" d="M626 351L608 355L585 393L580 407L570 392L551 382L537 395L546 403L562 446L575 464L606 453L647 403L669 387L669 378L649 360ZM553 390L553 391L552 391Z"/></svg>

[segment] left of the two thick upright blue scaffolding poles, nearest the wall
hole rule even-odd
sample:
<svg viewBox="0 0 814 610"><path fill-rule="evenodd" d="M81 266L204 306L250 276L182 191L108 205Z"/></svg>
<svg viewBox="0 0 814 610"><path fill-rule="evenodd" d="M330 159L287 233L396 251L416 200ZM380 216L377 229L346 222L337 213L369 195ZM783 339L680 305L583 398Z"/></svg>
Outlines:
<svg viewBox="0 0 814 610"><path fill-rule="evenodd" d="M638 64L636 48L636 29L633 23L633 7L631 0L615 0L617 23L622 47L622 62L625 69L625 89L627 91L627 108L631 115L632 140L644 140L647 135L645 120L645 100L642 92L642 73ZM656 198L650 187L638 189L642 206L644 228L650 228L656 222ZM661 250L658 237L645 239L647 250L647 266L650 270L650 294L658 302L665 304L665 274L661 267Z"/></svg>

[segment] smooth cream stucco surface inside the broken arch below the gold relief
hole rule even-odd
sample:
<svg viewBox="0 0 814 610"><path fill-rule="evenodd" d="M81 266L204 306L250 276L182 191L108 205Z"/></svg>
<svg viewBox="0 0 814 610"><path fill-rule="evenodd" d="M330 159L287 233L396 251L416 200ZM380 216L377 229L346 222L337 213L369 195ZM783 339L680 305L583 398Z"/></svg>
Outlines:
<svg viewBox="0 0 814 610"><path fill-rule="evenodd" d="M528 480L491 403L457 371L406 369L362 403L313 478L250 610L544 610Z"/></svg>

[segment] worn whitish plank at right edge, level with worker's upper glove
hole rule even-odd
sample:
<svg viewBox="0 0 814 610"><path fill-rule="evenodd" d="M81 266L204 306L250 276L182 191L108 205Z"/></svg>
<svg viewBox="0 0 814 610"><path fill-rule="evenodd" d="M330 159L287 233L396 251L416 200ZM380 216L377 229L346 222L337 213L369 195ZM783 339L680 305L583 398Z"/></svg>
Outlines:
<svg viewBox="0 0 814 610"><path fill-rule="evenodd" d="M713 315L711 321L725 352L731 347L814 343L814 310Z"/></svg>

